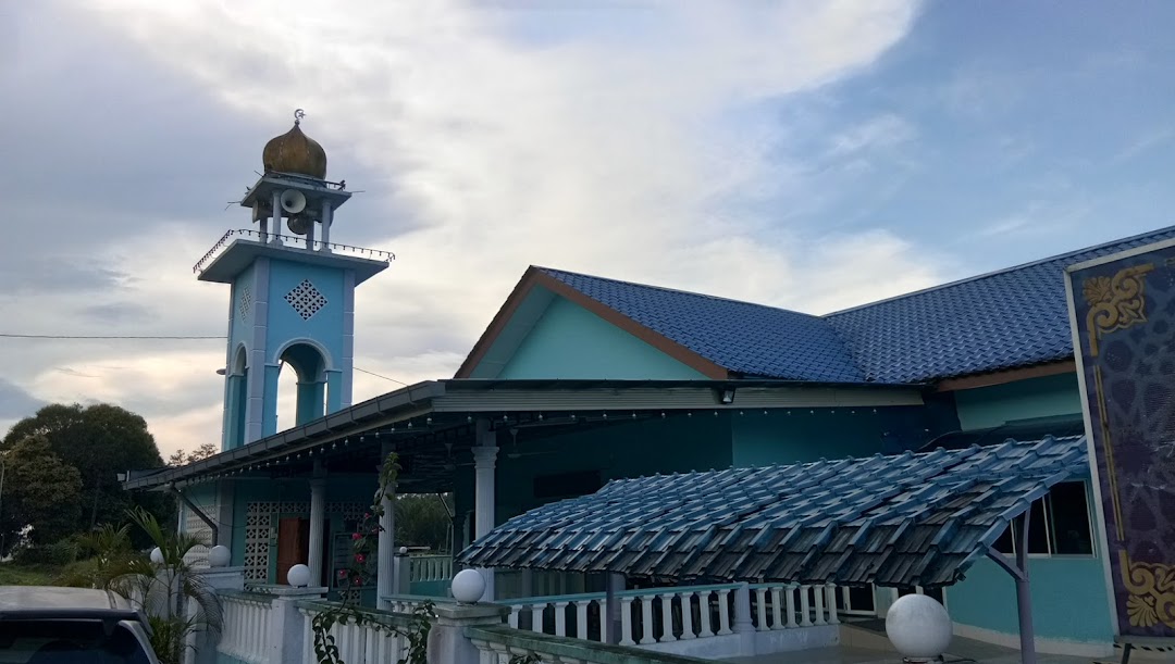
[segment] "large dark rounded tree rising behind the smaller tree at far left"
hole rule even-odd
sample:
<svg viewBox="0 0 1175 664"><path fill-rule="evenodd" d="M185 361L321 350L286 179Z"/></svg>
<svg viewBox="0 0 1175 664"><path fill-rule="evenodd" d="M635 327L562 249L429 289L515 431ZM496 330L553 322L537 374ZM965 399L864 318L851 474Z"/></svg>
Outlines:
<svg viewBox="0 0 1175 664"><path fill-rule="evenodd" d="M129 494L119 485L119 473L163 466L155 439L141 416L109 404L86 407L53 404L16 422L0 442L0 449L8 449L31 435L47 440L52 453L81 475L78 499L81 513L72 531L89 531L100 523L121 523L127 509L134 506L146 507L160 519L174 514L169 496ZM135 540L146 543L139 533Z"/></svg>

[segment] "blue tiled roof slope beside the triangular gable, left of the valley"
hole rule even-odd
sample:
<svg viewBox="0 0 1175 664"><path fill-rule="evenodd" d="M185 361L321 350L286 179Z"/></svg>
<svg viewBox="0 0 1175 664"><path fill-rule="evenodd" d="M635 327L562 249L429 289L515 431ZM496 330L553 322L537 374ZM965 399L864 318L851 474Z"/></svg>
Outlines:
<svg viewBox="0 0 1175 664"><path fill-rule="evenodd" d="M819 317L602 277L540 270L728 371L817 382L861 380L845 344Z"/></svg>

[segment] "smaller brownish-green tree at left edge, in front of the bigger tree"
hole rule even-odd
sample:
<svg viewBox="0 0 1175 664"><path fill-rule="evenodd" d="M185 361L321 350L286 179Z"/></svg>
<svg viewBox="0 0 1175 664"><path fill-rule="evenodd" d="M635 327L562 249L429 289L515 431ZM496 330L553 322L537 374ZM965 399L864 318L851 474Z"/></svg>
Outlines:
<svg viewBox="0 0 1175 664"><path fill-rule="evenodd" d="M74 531L81 514L81 474L61 461L43 435L31 435L8 447L0 496L0 537L16 543L25 527L35 544L56 542Z"/></svg>

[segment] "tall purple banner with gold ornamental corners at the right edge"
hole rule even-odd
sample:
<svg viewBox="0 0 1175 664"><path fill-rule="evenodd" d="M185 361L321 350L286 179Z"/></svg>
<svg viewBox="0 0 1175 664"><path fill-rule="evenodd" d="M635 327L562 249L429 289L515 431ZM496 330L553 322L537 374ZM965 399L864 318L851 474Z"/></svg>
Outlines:
<svg viewBox="0 0 1175 664"><path fill-rule="evenodd" d="M1175 637L1175 246L1069 285L1119 633Z"/></svg>

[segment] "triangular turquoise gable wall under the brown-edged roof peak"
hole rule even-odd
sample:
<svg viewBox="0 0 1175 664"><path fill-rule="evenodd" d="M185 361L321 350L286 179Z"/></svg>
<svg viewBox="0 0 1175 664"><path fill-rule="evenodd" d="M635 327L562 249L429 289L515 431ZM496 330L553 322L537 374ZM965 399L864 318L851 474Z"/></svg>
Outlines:
<svg viewBox="0 0 1175 664"><path fill-rule="evenodd" d="M556 297L497 378L705 379L595 313Z"/></svg>

